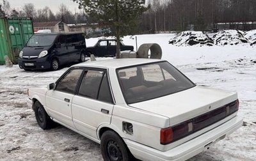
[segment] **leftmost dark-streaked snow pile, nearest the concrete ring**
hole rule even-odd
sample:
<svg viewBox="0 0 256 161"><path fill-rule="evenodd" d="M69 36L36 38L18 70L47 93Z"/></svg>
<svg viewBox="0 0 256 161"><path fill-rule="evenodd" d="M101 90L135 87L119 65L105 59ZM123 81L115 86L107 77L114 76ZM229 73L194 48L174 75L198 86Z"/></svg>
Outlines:
<svg viewBox="0 0 256 161"><path fill-rule="evenodd" d="M202 31L183 31L169 41L170 44L176 46L187 45L213 45L213 40Z"/></svg>

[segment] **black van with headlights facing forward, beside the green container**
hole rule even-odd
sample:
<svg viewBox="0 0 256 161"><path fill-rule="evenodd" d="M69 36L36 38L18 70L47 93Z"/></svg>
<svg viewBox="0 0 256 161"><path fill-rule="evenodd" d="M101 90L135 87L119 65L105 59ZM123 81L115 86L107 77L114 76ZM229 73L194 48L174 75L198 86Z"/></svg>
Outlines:
<svg viewBox="0 0 256 161"><path fill-rule="evenodd" d="M84 33L33 34L19 54L19 66L24 70L58 70L60 65L85 61Z"/></svg>

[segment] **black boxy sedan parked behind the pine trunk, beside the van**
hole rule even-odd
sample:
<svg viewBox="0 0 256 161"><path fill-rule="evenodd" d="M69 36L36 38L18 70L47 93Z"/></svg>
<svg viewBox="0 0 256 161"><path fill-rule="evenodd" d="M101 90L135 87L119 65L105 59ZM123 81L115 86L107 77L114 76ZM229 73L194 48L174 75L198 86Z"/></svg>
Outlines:
<svg viewBox="0 0 256 161"><path fill-rule="evenodd" d="M133 46L124 45L120 42L120 50L133 50ZM116 56L116 40L115 39L104 39L99 40L93 47L87 47L87 56L94 54L98 57Z"/></svg>

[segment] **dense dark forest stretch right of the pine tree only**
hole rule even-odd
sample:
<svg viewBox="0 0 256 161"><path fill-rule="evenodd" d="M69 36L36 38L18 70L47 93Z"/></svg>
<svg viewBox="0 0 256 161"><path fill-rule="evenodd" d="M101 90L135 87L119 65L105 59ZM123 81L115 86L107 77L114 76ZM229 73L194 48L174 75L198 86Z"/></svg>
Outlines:
<svg viewBox="0 0 256 161"><path fill-rule="evenodd" d="M256 21L255 0L148 0L140 31L205 31L220 22Z"/></svg>

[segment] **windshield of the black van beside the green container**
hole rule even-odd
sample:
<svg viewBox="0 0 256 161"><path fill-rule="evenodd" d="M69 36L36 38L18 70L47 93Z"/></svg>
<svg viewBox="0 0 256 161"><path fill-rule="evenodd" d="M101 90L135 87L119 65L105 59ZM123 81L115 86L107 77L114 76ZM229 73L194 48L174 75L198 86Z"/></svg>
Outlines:
<svg viewBox="0 0 256 161"><path fill-rule="evenodd" d="M45 47L51 45L57 34L34 34L28 40L27 47Z"/></svg>

